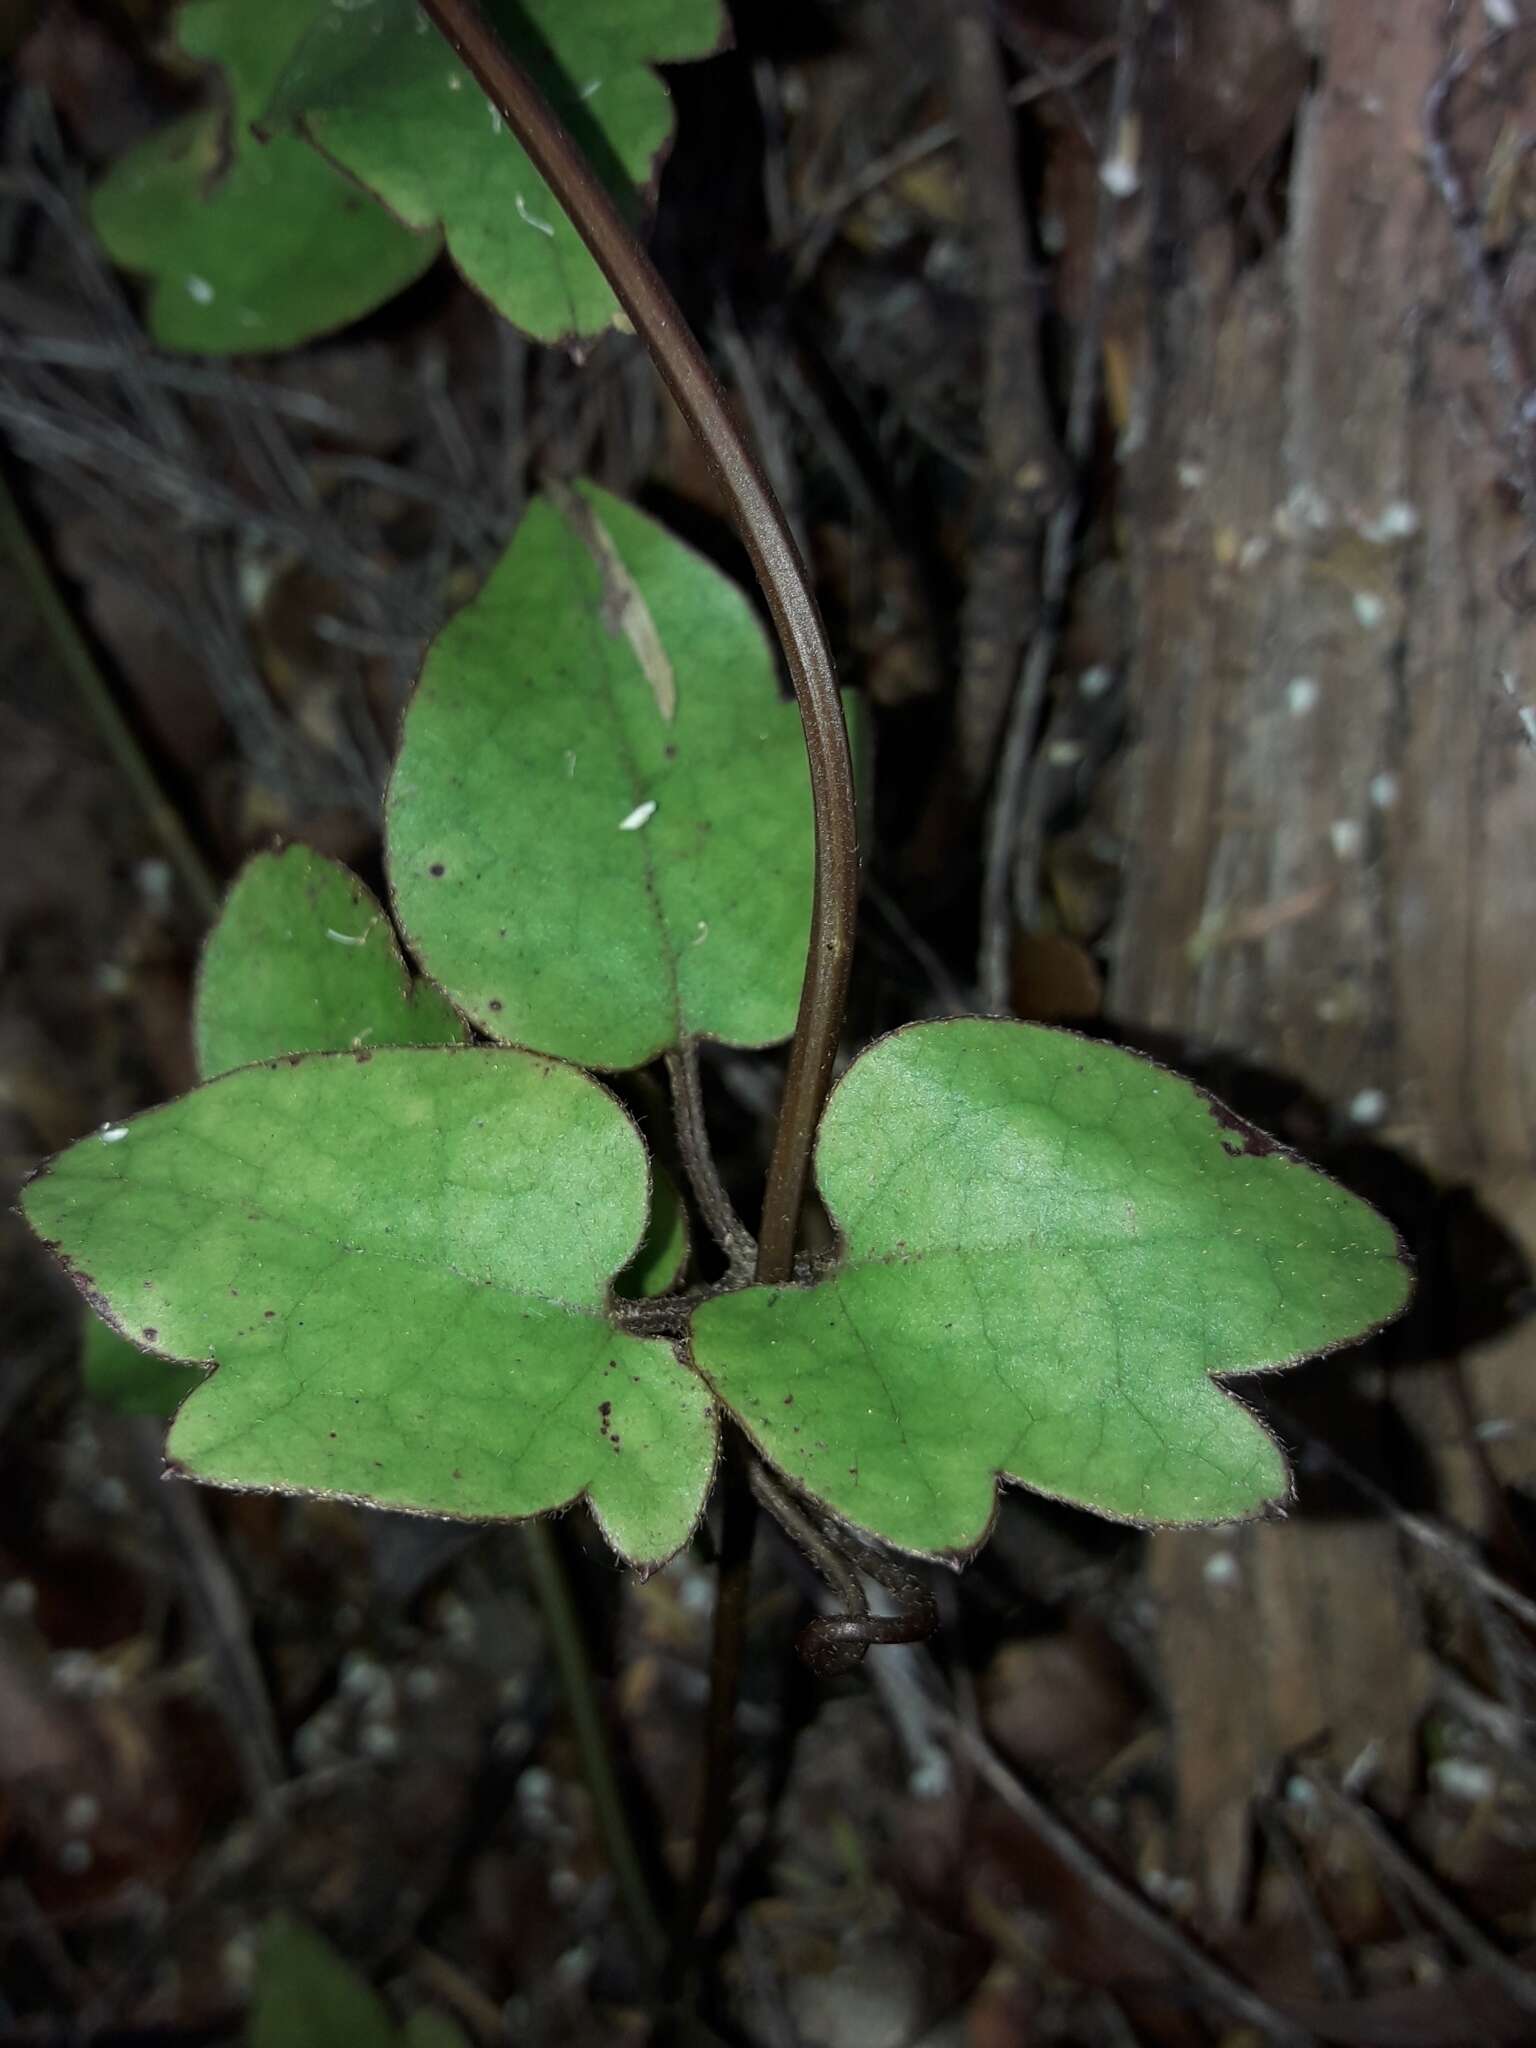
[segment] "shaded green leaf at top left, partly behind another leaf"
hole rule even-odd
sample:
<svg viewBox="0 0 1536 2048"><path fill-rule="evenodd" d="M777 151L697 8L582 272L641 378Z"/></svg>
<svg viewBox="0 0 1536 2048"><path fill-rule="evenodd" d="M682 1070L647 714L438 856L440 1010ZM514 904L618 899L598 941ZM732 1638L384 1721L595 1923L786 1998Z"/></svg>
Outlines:
<svg viewBox="0 0 1536 2048"><path fill-rule="evenodd" d="M150 332L164 348L291 348L371 313L436 258L436 236L406 229L299 137L250 135L317 4L184 6L182 49L223 66L227 104L172 121L92 195L111 260L152 281Z"/></svg>

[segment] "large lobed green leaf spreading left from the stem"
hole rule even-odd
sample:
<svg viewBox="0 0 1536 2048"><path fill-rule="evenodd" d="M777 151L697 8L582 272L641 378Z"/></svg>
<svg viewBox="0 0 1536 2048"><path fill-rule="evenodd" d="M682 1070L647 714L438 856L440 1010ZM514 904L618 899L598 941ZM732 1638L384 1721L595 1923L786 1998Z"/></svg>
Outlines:
<svg viewBox="0 0 1536 2048"><path fill-rule="evenodd" d="M170 1432L190 1477L475 1520L588 1495L647 1567L715 1462L700 1382L608 1315L647 1192L600 1083L444 1047L242 1067L82 1139L25 1210L119 1329L217 1362Z"/></svg>

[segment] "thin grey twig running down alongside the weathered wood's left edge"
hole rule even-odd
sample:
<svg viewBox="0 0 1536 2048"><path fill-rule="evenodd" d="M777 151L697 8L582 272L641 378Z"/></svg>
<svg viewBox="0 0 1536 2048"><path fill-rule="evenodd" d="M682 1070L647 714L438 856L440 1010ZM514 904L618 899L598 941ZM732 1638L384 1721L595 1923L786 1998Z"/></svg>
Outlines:
<svg viewBox="0 0 1536 2048"><path fill-rule="evenodd" d="M1120 49L1114 63L1114 86L1110 90L1110 119L1106 127L1106 154L1114 150L1126 115L1130 113L1130 92L1137 78L1137 25L1139 0L1120 4ZM1028 778L1034 735L1044 707L1044 690L1051 680L1051 666L1061 639L1061 618L1071 584L1073 543L1081 512L1081 481L1087 457L1094 446L1094 412L1098 408L1100 342L1104 334L1104 309L1114 276L1114 211L1116 197L1104 180L1098 193L1098 219L1094 223L1094 287L1077 336L1071 371L1071 397L1067 403L1065 451L1071 471L1067 496L1057 504L1044 535L1044 567L1040 573L1040 623L1030 639L1024 668L1014 696L1014 709L1004 735L1004 752L997 762L997 782L993 788L991 817L987 819L985 870L981 881L981 952L977 958L977 987L981 1008L1006 1012L1010 1008L1010 954L1014 932L1014 850L1018 842L1020 813L1024 807L1024 784Z"/></svg>

